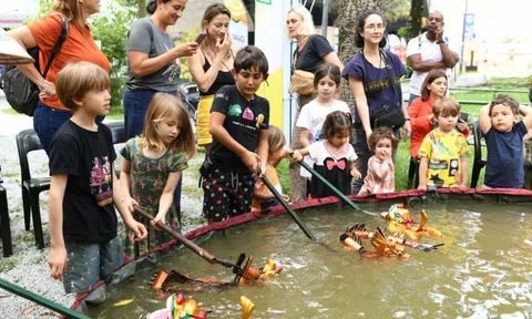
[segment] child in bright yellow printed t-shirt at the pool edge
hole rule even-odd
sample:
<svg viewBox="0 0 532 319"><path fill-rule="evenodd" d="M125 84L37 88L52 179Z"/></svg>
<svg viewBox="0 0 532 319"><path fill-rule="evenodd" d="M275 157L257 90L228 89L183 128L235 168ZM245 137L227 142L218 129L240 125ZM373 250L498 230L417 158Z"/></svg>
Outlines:
<svg viewBox="0 0 532 319"><path fill-rule="evenodd" d="M466 188L469 146L466 137L454 130L460 104L443 96L434 102L432 113L438 127L427 134L419 148L418 189Z"/></svg>

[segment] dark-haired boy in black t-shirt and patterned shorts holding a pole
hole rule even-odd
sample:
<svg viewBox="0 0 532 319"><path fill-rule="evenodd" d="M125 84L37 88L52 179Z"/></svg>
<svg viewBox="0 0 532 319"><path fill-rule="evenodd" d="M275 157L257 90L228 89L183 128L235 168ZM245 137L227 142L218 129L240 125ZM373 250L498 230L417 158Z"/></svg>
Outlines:
<svg viewBox="0 0 532 319"><path fill-rule="evenodd" d="M216 92L211 109L213 144L203 166L203 216L221 222L252 210L255 178L268 158L269 103L257 96L268 76L268 60L258 48L238 51L232 70L236 85ZM255 153L256 152L256 153Z"/></svg>

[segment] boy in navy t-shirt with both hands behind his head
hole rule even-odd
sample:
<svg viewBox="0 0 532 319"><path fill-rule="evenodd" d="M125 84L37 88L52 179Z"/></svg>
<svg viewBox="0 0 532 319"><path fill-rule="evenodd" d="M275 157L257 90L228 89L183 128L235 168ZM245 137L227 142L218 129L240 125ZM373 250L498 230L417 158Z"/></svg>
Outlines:
<svg viewBox="0 0 532 319"><path fill-rule="evenodd" d="M519 113L524 117L519 121ZM484 186L522 188L524 185L523 137L532 125L532 110L504 94L483 106L480 128L485 135L488 160Z"/></svg>

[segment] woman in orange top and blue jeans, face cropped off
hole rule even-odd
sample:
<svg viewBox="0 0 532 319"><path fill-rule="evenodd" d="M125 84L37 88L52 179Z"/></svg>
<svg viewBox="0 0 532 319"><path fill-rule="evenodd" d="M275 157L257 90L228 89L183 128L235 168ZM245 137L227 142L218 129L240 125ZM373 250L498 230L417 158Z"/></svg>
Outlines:
<svg viewBox="0 0 532 319"><path fill-rule="evenodd" d="M66 63L78 61L92 62L102 66L108 73L110 71L109 60L94 43L91 28L86 24L86 19L99 11L99 0L57 0L52 12L47 17L28 27L9 32L9 35L17 40L22 48L39 47L40 49L39 65L41 70L37 70L33 64L20 64L17 68L41 90L40 101L33 113L33 128L47 154L55 131L72 116L72 112L62 105L55 95L55 74ZM68 38L44 79L41 72L44 72L52 49L61 34L61 14L69 21Z"/></svg>

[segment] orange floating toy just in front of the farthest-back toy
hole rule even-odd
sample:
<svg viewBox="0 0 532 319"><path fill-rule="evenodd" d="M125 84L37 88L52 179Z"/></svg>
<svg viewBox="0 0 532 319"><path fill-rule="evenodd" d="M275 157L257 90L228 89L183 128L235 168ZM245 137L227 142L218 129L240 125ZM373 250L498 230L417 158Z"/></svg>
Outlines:
<svg viewBox="0 0 532 319"><path fill-rule="evenodd" d="M358 225L356 225L358 226ZM344 243L344 246L352 251L360 253L361 256L367 258L377 258L381 256L388 257L398 257L401 259L410 258L410 255L407 254L403 245L397 243L396 240L389 239L385 231L380 227L375 228L374 231L365 231L366 229L351 231L348 234L341 234L340 241ZM360 234L361 236L358 236ZM371 246L374 246L375 251L366 251L362 246L362 238L369 239Z"/></svg>

